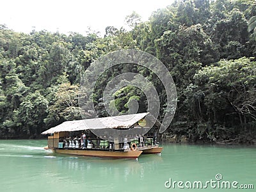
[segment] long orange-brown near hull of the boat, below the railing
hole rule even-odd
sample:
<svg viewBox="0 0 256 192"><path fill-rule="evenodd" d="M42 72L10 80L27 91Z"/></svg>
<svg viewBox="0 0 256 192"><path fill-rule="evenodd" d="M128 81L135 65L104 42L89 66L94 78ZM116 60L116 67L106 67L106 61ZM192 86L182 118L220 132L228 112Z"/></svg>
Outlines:
<svg viewBox="0 0 256 192"><path fill-rule="evenodd" d="M77 150L77 149L62 149L52 148L53 152L58 154L68 154L76 156L91 156L91 157L111 157L111 158L133 158L136 159L140 156L142 151L140 150L129 150L129 151L103 151L103 150Z"/></svg>

